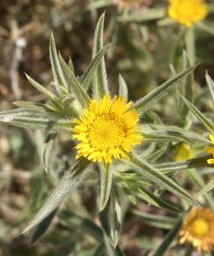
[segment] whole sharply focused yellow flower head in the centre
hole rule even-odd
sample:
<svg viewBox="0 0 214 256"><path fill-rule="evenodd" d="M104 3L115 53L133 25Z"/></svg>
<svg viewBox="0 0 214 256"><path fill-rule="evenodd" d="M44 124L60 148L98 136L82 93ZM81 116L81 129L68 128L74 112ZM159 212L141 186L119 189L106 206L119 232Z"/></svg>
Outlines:
<svg viewBox="0 0 214 256"><path fill-rule="evenodd" d="M129 159L128 153L142 140L139 115L135 109L129 110L131 105L122 96L111 101L108 94L100 102L92 100L84 115L75 120L74 138L80 141L77 158L107 163L114 158Z"/></svg>

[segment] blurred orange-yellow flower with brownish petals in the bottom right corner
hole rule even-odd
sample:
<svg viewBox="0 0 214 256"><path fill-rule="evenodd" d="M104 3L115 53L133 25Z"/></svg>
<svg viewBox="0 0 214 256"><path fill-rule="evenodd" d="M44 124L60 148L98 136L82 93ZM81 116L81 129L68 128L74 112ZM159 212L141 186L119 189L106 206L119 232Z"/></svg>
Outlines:
<svg viewBox="0 0 214 256"><path fill-rule="evenodd" d="M214 246L214 213L209 207L194 208L183 224L180 243L190 243L199 252L211 252Z"/></svg>

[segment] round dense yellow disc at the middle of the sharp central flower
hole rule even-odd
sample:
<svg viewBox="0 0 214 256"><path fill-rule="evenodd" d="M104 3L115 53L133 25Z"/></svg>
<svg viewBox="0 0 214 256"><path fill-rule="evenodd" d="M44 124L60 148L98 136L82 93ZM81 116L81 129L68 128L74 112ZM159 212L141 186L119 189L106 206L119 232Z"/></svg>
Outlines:
<svg viewBox="0 0 214 256"><path fill-rule="evenodd" d="M97 117L88 130L90 144L101 150L120 147L125 136L122 120L109 114Z"/></svg>

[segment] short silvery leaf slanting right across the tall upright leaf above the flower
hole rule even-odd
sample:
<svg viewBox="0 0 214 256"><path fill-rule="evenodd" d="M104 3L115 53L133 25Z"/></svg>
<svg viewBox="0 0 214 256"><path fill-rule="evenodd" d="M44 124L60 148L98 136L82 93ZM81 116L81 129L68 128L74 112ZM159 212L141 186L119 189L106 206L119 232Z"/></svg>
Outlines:
<svg viewBox="0 0 214 256"><path fill-rule="evenodd" d="M88 68L83 74L83 77L81 78L81 82L85 90L87 90L91 83L92 79L94 78L94 74L98 72L98 68L100 66L100 63L102 62L103 56L105 55L108 46L105 46L103 49L100 49L100 51L92 58L91 64L89 64Z"/></svg>

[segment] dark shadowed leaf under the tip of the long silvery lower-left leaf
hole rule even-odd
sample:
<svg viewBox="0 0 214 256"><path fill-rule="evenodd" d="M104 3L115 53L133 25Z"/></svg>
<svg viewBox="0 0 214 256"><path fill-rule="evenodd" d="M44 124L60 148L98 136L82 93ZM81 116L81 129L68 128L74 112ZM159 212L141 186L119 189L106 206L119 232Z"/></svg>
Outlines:
<svg viewBox="0 0 214 256"><path fill-rule="evenodd" d="M40 224L38 224L36 230L33 232L33 237L31 238L30 245L33 245L48 230L48 227L53 221L56 212L57 210L54 210Z"/></svg>

